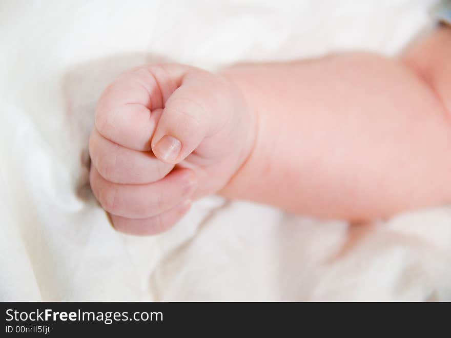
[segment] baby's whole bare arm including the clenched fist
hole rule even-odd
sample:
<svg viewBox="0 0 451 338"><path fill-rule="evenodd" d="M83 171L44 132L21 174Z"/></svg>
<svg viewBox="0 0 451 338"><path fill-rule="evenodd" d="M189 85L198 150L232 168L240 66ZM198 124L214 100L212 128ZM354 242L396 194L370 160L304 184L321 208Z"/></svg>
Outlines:
<svg viewBox="0 0 451 338"><path fill-rule="evenodd" d="M219 194L361 222L451 203L451 28L398 58L151 64L101 95L90 181L118 231L173 226Z"/></svg>

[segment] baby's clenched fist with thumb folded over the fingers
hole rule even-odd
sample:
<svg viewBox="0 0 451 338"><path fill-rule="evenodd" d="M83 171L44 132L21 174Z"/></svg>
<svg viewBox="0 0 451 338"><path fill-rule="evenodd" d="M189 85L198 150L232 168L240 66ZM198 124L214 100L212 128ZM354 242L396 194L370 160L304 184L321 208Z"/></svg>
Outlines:
<svg viewBox="0 0 451 338"><path fill-rule="evenodd" d="M251 151L252 121L220 75L171 64L131 70L97 105L92 190L117 230L165 231L193 199L231 180Z"/></svg>

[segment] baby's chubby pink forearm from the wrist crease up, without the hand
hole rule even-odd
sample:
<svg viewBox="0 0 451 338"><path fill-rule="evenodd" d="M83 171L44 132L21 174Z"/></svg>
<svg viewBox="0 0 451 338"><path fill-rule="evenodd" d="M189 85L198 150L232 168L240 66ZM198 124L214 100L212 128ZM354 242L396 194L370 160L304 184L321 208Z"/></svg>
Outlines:
<svg viewBox="0 0 451 338"><path fill-rule="evenodd" d="M256 114L221 194L361 221L451 202L451 28L368 53L223 72Z"/></svg>

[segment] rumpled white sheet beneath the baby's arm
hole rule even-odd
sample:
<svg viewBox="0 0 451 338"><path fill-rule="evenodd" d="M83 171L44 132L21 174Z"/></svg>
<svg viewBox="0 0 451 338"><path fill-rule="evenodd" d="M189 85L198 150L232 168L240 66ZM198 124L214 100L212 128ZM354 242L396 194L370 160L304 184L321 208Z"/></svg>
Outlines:
<svg viewBox="0 0 451 338"><path fill-rule="evenodd" d="M351 228L209 197L139 238L109 226L83 166L121 70L394 54L431 3L2 1L0 300L451 300L449 207Z"/></svg>

